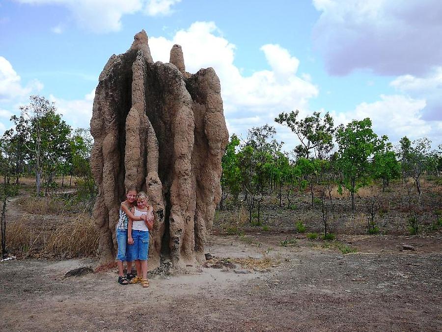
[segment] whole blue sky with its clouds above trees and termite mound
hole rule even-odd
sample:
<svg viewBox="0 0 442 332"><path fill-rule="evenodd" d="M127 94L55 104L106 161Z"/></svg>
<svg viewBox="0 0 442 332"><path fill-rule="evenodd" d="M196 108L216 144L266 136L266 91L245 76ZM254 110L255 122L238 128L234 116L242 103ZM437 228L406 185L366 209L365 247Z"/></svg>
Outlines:
<svg viewBox="0 0 442 332"><path fill-rule="evenodd" d="M98 76L141 29L154 61L182 46L186 69L214 67L229 133L299 109L335 123L370 117L395 143L442 143L439 0L0 0L0 132L30 94L88 127Z"/></svg>

